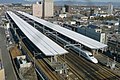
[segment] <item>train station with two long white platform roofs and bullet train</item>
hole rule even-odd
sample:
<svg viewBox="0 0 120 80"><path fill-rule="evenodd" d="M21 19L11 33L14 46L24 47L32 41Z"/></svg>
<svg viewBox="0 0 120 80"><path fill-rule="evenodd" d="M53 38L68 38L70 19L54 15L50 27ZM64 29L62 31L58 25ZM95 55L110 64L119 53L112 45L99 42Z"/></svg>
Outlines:
<svg viewBox="0 0 120 80"><path fill-rule="evenodd" d="M16 39L15 43L18 44L19 49L23 48L25 53L29 53L28 57L36 69L39 68L38 62L41 62L41 65L46 63L56 73L68 73L69 68L71 70L72 67L68 65L66 58L70 60L68 56L74 55L71 53L75 52L92 63L98 63L94 55L99 50L107 49L106 44L25 12L7 11L6 17L10 24L10 31ZM47 72L46 74L50 75ZM72 73L82 79L77 75L78 72ZM54 77L54 79L57 78Z"/></svg>

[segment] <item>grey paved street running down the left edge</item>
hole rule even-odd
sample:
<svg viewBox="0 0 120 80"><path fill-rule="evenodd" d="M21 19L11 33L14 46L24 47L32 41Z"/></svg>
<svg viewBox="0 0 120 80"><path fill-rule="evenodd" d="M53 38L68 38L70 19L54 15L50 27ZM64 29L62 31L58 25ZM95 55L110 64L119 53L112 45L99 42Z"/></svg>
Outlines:
<svg viewBox="0 0 120 80"><path fill-rule="evenodd" d="M6 80L17 80L9 52L6 47L4 28L0 27L0 49L5 69Z"/></svg>

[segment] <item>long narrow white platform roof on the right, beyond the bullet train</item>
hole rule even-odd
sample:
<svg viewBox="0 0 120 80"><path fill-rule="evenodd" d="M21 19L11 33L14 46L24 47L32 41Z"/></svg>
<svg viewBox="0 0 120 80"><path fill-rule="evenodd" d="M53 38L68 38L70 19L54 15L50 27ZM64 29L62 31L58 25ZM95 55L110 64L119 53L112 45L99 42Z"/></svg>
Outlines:
<svg viewBox="0 0 120 80"><path fill-rule="evenodd" d="M89 37L86 37L82 34L79 34L77 32L74 32L74 31L71 31L69 29L66 29L64 27L61 27L59 25L56 25L56 24L53 24L51 22L48 22L48 21L45 21L43 19L40 19L40 18L37 18L35 16L32 16L30 14L27 14L25 12L21 12L21 11L17 11L18 13L54 30L54 31L57 31L58 33L80 43L80 44L83 44L84 46L86 47L89 47L90 49L102 49L102 48L105 48L107 47L107 45L101 43L101 42L98 42L94 39L91 39Z"/></svg>

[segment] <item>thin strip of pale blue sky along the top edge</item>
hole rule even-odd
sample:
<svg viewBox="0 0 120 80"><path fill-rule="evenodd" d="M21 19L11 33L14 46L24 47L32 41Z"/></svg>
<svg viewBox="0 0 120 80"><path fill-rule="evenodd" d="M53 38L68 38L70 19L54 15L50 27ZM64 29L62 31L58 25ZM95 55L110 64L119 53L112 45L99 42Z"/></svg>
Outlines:
<svg viewBox="0 0 120 80"><path fill-rule="evenodd" d="M0 3L14 3L25 1L40 1L40 0L0 0ZM81 2L120 2L120 0L54 0L54 1L81 1Z"/></svg>

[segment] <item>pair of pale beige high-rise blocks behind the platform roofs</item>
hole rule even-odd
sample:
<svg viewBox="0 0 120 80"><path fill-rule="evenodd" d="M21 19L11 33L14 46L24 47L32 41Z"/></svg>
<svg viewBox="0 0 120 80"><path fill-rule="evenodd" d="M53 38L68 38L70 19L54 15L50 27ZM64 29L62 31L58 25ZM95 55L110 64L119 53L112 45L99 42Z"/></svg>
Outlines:
<svg viewBox="0 0 120 80"><path fill-rule="evenodd" d="M53 17L53 0L43 0L33 4L33 16L40 18Z"/></svg>

